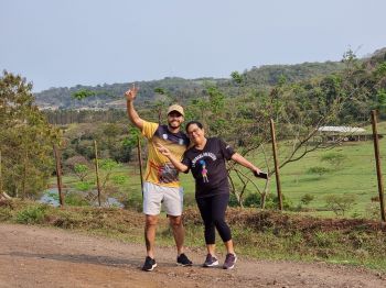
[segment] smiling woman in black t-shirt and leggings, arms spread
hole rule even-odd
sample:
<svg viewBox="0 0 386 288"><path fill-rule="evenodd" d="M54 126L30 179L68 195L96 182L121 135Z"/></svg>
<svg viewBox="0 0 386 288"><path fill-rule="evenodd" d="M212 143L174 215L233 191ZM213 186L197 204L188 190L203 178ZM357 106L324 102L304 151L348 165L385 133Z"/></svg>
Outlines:
<svg viewBox="0 0 386 288"><path fill-rule="evenodd" d="M233 159L259 174L260 169L248 162L233 148L217 137L205 137L203 125L197 121L186 124L186 133L193 144L184 155L182 162L176 159L168 148L159 145L158 149L167 156L180 171L192 170L195 179L195 199L205 225L205 243L207 255L204 267L218 265L215 255L215 229L222 237L227 254L224 269L235 266L237 256L234 251L230 229L225 222L225 210L229 200L229 184L225 160Z"/></svg>

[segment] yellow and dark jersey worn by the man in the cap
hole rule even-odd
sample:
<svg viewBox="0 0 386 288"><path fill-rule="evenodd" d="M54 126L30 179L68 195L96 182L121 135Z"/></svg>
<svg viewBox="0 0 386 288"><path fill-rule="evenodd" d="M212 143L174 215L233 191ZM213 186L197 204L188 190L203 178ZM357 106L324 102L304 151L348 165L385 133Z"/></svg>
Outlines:
<svg viewBox="0 0 386 288"><path fill-rule="evenodd" d="M157 149L157 143L165 146L178 158L189 145L185 133L171 133L168 125L143 121L142 135L148 139L148 162L144 173L144 180L165 187L180 187L179 171L168 157Z"/></svg>

